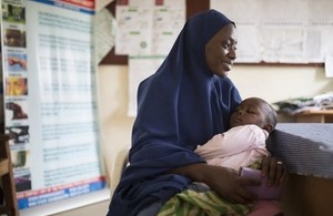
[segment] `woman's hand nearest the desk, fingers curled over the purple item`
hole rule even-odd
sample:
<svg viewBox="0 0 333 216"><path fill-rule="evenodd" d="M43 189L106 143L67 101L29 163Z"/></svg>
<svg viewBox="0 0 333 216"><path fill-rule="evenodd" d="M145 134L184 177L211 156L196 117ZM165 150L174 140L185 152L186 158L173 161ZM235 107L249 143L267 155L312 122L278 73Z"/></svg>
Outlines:
<svg viewBox="0 0 333 216"><path fill-rule="evenodd" d="M287 177L287 169L283 162L276 157L262 160L262 176L268 176L268 186L279 186Z"/></svg>

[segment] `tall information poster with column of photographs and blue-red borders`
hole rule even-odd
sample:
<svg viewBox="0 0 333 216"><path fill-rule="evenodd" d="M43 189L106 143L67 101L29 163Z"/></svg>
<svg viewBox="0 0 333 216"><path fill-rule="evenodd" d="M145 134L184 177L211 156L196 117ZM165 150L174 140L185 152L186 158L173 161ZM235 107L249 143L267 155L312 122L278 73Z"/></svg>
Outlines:
<svg viewBox="0 0 333 216"><path fill-rule="evenodd" d="M11 136L20 209L105 187L99 152L94 4L72 2L1 2L4 126Z"/></svg>

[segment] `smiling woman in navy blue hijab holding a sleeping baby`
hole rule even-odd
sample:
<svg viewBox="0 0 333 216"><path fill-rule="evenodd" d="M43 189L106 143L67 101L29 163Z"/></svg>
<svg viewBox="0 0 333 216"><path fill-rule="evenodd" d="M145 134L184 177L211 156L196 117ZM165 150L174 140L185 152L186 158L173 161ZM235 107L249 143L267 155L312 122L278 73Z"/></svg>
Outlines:
<svg viewBox="0 0 333 216"><path fill-rule="evenodd" d="M255 198L243 186L258 182L210 166L193 152L229 130L230 113L241 103L226 78L235 50L235 25L221 12L204 11L186 21L162 65L139 85L130 165L113 194L109 216L148 215L147 209L155 215L193 181L234 203ZM275 158L263 163L263 174L272 181L280 173Z"/></svg>

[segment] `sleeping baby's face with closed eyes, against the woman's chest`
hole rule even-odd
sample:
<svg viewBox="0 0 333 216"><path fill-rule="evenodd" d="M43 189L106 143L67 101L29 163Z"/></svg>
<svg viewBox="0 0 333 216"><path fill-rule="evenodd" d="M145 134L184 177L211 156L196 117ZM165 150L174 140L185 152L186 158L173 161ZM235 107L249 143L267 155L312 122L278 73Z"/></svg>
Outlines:
<svg viewBox="0 0 333 216"><path fill-rule="evenodd" d="M232 113L230 127L255 124L263 127L266 124L266 104L254 97L244 100Z"/></svg>

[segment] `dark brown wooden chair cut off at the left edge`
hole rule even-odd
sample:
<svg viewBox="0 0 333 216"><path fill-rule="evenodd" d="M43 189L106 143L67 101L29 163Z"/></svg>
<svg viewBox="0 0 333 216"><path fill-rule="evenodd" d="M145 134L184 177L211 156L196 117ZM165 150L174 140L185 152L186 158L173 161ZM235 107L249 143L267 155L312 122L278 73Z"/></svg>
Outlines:
<svg viewBox="0 0 333 216"><path fill-rule="evenodd" d="M1 188L3 191L3 205L0 205L0 215L18 216L17 191L12 174L8 140L9 136L0 135L0 177Z"/></svg>

